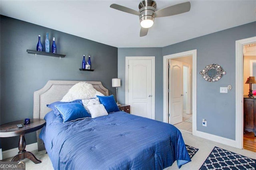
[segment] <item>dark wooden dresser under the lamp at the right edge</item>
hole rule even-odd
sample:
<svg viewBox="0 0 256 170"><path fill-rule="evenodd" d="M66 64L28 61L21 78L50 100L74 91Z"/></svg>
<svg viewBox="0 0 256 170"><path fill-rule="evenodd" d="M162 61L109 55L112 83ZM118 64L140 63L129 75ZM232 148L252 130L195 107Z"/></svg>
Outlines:
<svg viewBox="0 0 256 170"><path fill-rule="evenodd" d="M256 136L256 98L244 97L244 131Z"/></svg>

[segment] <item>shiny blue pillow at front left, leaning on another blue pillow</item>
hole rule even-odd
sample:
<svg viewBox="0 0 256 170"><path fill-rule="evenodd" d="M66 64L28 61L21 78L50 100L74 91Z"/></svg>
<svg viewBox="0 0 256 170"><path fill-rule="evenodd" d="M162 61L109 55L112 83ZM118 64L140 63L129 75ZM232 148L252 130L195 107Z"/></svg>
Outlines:
<svg viewBox="0 0 256 170"><path fill-rule="evenodd" d="M55 107L60 112L63 123L91 117L81 103L57 104Z"/></svg>

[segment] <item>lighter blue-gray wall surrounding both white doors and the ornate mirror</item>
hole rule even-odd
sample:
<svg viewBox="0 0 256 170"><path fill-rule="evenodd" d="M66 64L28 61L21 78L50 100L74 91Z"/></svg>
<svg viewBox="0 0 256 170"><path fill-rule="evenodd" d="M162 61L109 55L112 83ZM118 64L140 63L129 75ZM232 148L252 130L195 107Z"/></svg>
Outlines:
<svg viewBox="0 0 256 170"><path fill-rule="evenodd" d="M162 121L163 56L197 49L197 130L235 140L235 41L254 36L256 22L163 48L118 48L118 77L125 80L126 56L156 56L155 117ZM226 71L226 75L218 82L206 82L199 74L204 66L211 63L220 64ZM220 87L227 87L229 84L232 85L232 90L228 94L220 94ZM122 86L118 96L121 103L125 101L124 91ZM207 119L207 127L202 126L202 119Z"/></svg>

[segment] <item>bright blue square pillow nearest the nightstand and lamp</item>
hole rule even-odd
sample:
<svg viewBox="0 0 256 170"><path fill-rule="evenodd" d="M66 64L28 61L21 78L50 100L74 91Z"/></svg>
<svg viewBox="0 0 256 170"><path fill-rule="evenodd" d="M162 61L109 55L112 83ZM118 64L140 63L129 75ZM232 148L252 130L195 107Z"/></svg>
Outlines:
<svg viewBox="0 0 256 170"><path fill-rule="evenodd" d="M103 104L108 113L114 111L120 111L114 99L114 95L111 96L97 96L99 98L100 103Z"/></svg>

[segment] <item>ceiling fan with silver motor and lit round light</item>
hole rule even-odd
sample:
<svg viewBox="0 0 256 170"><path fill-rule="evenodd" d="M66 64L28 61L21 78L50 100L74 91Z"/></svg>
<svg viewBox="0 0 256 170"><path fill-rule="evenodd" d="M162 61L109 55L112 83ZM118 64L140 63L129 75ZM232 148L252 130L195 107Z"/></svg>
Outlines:
<svg viewBox="0 0 256 170"><path fill-rule="evenodd" d="M139 16L141 25L140 37L143 37L148 34L148 28L152 27L155 18L174 16L188 12L190 11L190 2L176 4L157 11L156 2L154 0L142 0L139 4L139 11L118 4L112 4L110 8Z"/></svg>

